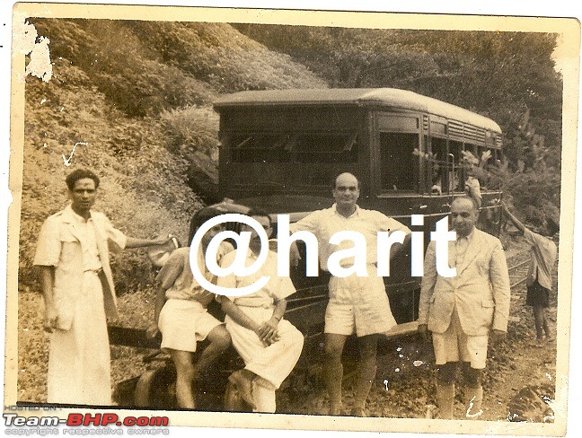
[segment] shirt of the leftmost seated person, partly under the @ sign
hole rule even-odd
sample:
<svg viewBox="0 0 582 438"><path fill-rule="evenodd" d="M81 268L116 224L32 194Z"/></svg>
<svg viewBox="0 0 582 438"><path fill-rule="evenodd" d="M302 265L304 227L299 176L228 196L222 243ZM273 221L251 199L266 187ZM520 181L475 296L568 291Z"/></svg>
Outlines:
<svg viewBox="0 0 582 438"><path fill-rule="evenodd" d="M233 245L227 241L222 241L216 251L216 262L220 263L220 260L225 254L232 250L234 250ZM209 282L215 281L213 274L207 270L202 245L198 246L198 267L201 270L204 269L203 275ZM167 300L198 301L204 306L207 306L215 297L214 293L208 292L192 276L190 269L190 247L183 247L172 251L170 258L163 264L155 280L159 282L160 287L165 289L165 297Z"/></svg>

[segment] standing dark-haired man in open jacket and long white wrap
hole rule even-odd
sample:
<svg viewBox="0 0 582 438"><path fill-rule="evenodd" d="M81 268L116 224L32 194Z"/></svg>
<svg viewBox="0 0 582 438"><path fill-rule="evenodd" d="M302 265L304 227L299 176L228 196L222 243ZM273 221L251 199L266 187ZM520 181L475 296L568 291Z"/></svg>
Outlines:
<svg viewBox="0 0 582 438"><path fill-rule="evenodd" d="M40 229L34 265L50 333L49 403L110 405L110 345L106 318L116 319L110 250L160 245L116 230L91 209L99 178L84 169L66 177L71 204Z"/></svg>

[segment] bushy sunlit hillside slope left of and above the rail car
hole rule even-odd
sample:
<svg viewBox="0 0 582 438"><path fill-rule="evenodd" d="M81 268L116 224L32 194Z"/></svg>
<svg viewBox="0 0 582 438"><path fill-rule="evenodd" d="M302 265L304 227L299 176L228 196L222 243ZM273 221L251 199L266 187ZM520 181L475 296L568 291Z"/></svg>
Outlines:
<svg viewBox="0 0 582 438"><path fill-rule="evenodd" d="M22 287L34 285L31 259L40 224L66 205L68 172L89 167L101 176L95 208L123 232L173 232L185 242L190 216L214 195L216 97L327 86L225 23L31 23L50 39L54 75L48 83L26 79ZM143 254L125 251L114 263L119 293L151 284Z"/></svg>

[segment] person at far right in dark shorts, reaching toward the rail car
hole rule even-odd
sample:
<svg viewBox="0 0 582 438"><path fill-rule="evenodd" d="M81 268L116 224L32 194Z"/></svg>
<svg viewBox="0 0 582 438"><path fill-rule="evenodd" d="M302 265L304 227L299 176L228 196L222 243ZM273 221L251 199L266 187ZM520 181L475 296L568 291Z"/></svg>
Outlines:
<svg viewBox="0 0 582 438"><path fill-rule="evenodd" d="M558 257L558 248L556 248L556 244L551 239L525 228L525 225L515 215L511 214L505 204L503 204L503 213L507 215L517 230L524 235L525 241L530 246L525 305L532 306L534 310L536 341L541 344L544 339L551 340L551 330L546 309L550 307L551 273ZM547 228L549 235L555 232L553 228L549 223Z"/></svg>

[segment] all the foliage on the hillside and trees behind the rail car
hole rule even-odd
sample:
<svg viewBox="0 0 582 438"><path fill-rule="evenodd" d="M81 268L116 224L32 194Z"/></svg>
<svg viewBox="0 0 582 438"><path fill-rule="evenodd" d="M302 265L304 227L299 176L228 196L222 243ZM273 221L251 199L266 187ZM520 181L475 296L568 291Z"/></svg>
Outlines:
<svg viewBox="0 0 582 438"><path fill-rule="evenodd" d="M137 237L175 232L185 240L190 215L216 196L212 103L240 90L387 86L472 109L505 133L507 160L498 178L516 210L534 227L559 222L562 83L551 58L555 35L31 22L50 39L55 75L49 83L32 76L26 83L24 285L33 278L40 223L65 206L63 180L77 166L101 175L96 207L120 229ZM75 144L67 167L61 155ZM152 279L139 252L126 251L116 263L120 291Z"/></svg>

